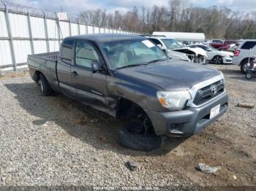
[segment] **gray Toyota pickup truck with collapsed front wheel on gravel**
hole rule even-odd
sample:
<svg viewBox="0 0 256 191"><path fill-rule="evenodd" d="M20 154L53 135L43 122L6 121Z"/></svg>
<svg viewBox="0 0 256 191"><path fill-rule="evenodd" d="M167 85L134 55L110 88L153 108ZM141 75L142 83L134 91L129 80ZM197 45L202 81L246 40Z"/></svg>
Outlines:
<svg viewBox="0 0 256 191"><path fill-rule="evenodd" d="M71 36L59 52L29 55L28 64L43 95L63 93L127 120L118 142L130 149L157 149L160 136L192 136L227 111L220 71L171 60L142 36Z"/></svg>

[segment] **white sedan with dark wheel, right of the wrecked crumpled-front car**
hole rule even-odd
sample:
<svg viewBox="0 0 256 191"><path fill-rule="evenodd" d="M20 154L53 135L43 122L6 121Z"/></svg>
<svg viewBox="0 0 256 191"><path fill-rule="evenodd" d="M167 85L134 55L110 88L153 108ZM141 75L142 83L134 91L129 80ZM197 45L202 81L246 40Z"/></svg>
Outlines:
<svg viewBox="0 0 256 191"><path fill-rule="evenodd" d="M207 58L206 61L215 63L215 64L228 64L232 63L234 53L233 52L227 52L227 51L219 51L213 47L206 46L204 44L192 44L188 47L200 47L203 50L206 50Z"/></svg>

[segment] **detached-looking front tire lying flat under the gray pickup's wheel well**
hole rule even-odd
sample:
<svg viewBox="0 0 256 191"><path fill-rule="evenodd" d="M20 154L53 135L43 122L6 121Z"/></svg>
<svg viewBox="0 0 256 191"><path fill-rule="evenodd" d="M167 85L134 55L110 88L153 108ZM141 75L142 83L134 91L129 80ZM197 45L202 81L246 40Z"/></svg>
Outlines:
<svg viewBox="0 0 256 191"><path fill-rule="evenodd" d="M154 133L141 134L136 132L140 123L129 123L118 129L118 144L127 149L150 152L159 149L162 144L160 136Z"/></svg>

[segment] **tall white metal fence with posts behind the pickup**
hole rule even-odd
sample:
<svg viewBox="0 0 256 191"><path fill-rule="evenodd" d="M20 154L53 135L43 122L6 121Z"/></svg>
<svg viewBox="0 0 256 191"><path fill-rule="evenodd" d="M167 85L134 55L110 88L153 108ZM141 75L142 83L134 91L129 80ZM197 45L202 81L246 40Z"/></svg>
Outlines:
<svg viewBox="0 0 256 191"><path fill-rule="evenodd" d="M62 39L80 34L135 34L101 28L78 17L59 20L56 13L0 0L0 69L26 66L29 54L59 51Z"/></svg>

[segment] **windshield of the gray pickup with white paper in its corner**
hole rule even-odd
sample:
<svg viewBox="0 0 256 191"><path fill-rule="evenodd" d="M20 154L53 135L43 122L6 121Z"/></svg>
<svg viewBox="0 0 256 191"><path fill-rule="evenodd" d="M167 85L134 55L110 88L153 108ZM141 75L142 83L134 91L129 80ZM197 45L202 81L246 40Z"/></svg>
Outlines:
<svg viewBox="0 0 256 191"><path fill-rule="evenodd" d="M104 42L102 48L108 57L111 69L169 59L159 47L144 39Z"/></svg>

